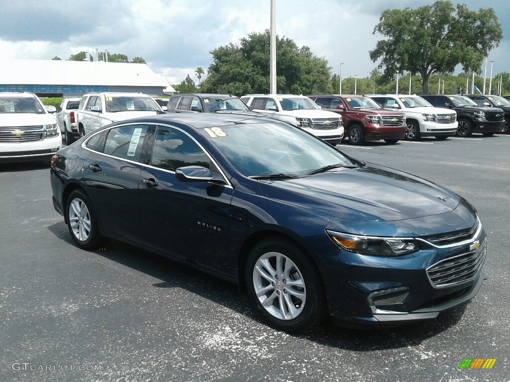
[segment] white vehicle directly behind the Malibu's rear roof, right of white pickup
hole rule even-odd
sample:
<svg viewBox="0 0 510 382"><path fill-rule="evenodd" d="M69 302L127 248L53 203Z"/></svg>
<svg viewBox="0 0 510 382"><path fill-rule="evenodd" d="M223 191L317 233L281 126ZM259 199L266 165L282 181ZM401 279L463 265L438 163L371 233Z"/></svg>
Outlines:
<svg viewBox="0 0 510 382"><path fill-rule="evenodd" d="M142 93L88 93L78 107L80 137L110 123L126 119L166 114L158 103Z"/></svg>

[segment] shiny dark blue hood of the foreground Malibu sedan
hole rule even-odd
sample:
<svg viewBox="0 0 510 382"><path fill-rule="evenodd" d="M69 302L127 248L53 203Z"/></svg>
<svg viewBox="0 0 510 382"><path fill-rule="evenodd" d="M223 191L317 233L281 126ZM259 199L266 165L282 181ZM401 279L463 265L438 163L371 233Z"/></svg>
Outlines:
<svg viewBox="0 0 510 382"><path fill-rule="evenodd" d="M372 163L286 180L260 180L269 198L330 216L395 221L453 211L460 197L448 189Z"/></svg>

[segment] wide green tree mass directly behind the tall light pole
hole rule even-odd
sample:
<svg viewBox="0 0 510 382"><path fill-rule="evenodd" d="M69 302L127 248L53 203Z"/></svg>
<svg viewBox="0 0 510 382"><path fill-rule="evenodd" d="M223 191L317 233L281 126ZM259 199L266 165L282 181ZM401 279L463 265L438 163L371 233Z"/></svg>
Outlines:
<svg viewBox="0 0 510 382"><path fill-rule="evenodd" d="M213 64L201 84L205 93L269 92L269 30L251 33L211 51ZM289 38L276 37L276 89L278 93L324 93L330 89L330 67L308 46L298 47Z"/></svg>

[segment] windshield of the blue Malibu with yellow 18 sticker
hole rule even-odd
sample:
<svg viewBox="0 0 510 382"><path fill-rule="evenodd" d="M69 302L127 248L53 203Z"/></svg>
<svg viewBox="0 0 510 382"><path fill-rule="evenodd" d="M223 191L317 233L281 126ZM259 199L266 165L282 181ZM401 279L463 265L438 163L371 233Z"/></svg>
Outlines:
<svg viewBox="0 0 510 382"><path fill-rule="evenodd" d="M304 176L324 166L352 166L333 147L281 122L243 123L201 131L244 176Z"/></svg>

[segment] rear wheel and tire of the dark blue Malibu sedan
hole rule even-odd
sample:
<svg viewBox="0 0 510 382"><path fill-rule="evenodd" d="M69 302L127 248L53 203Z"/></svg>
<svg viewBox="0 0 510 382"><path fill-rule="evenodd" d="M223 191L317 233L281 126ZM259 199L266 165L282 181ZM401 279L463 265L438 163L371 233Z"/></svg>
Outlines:
<svg viewBox="0 0 510 382"><path fill-rule="evenodd" d="M83 209L83 206L85 209ZM105 242L105 238L101 236L97 228L97 220L92 203L87 194L81 189L75 189L69 195L65 213L67 228L74 242L78 244L78 247L84 250L91 250ZM81 219L77 215L80 215ZM87 225L88 229L86 228ZM78 229L78 232L75 231L76 229ZM82 229L83 231L81 231ZM83 236L82 232L84 233Z"/></svg>

